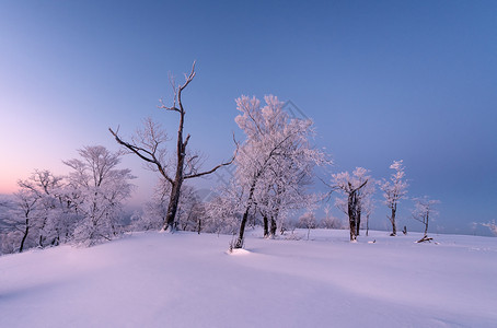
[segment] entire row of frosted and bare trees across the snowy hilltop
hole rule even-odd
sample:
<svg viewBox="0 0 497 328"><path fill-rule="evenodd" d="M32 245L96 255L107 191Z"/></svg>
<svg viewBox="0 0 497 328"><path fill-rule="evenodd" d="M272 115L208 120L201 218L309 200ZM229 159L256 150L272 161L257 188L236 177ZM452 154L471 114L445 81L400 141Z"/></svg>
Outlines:
<svg viewBox="0 0 497 328"><path fill-rule="evenodd" d="M245 138L242 142L233 137L233 155L230 160L209 169L203 169L201 156L188 148L190 134L184 133L186 108L182 92L195 78L195 63L185 82L174 86L173 104L161 101L160 109L178 115L175 151L169 154L169 140L160 124L146 119L143 126L128 140L118 129L109 129L122 151L113 153L104 147L84 147L79 159L65 161L71 169L67 176L50 171L35 171L19 181L20 190L10 201L0 203L2 253L23 251L31 247L56 246L79 243L88 246L119 236L128 230L175 230L229 233L234 238L231 247L241 248L247 224L263 226L265 237L299 225L317 226L314 211L332 192L338 195L335 206L348 218L350 241L356 241L362 219L366 233L374 209L375 187L383 191L383 202L390 210L392 236L397 234L396 213L402 199L406 198L408 184L403 161L394 161L389 179L374 180L369 171L357 167L352 173L332 174L327 195L311 192L315 168L330 167L332 161L323 150L312 144L315 136L311 119L291 117L284 103L276 96L241 96L236 99L239 115L235 122ZM173 83L173 85L175 85ZM123 209L131 196L132 179L127 168L118 168L120 157L136 155L149 169L158 173L158 185L141 213L124 224ZM233 165L233 176L226 185L218 186L215 197L205 201L195 188L185 181L215 173ZM438 201L428 198L416 200L413 218L425 224ZM304 211L299 222L292 214ZM342 226L325 207L323 226ZM309 237L309 232L308 232Z"/></svg>

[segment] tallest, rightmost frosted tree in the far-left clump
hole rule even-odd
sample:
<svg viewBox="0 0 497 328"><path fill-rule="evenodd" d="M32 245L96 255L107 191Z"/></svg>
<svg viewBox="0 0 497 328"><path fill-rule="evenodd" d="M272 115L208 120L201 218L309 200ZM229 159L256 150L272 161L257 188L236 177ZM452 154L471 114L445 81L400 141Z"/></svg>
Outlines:
<svg viewBox="0 0 497 328"><path fill-rule="evenodd" d="M89 246L120 233L123 202L131 195L135 178L128 168L119 169L120 153L102 145L84 147L81 159L63 163L72 168L68 176L69 201L81 218L74 239Z"/></svg>

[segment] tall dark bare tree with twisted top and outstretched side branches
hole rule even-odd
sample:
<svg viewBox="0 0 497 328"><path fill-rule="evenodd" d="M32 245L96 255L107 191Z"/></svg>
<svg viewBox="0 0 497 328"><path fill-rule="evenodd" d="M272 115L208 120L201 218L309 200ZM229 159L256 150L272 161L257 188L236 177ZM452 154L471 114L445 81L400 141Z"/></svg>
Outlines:
<svg viewBox="0 0 497 328"><path fill-rule="evenodd" d="M190 134L187 134L184 138L184 122L185 122L185 107L183 106L182 93L188 86L188 84L195 78L195 62L192 67L192 72L189 75L185 74L185 83L175 85L172 81L174 89L173 105L166 106L161 101L160 109L167 112L175 112L180 115L180 121L177 127L176 134L176 153L175 153L175 167L174 173L167 172L167 165L165 160L165 149L162 147L166 141L166 134L161 129L158 129L158 126L151 120L146 122L146 127L142 132L137 133L136 138L131 139L131 142L124 141L118 136L118 130L114 131L109 129L111 133L116 139L117 143L125 147L129 152L136 154L138 157L151 165L154 171L159 172L170 185L171 185L171 195L167 204L166 218L163 223L163 230L170 230L174 232L175 230L175 218L176 211L180 202L181 188L185 179L196 178L205 176L216 172L218 168L230 165L234 156L224 163L221 163L209 171L199 172L199 156L198 154L190 154L187 151L188 141Z"/></svg>

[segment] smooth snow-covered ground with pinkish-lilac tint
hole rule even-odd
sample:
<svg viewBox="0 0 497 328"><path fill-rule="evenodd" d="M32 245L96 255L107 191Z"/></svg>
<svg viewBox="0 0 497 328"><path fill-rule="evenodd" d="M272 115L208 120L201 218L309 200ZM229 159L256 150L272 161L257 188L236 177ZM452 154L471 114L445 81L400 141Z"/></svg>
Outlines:
<svg viewBox="0 0 497 328"><path fill-rule="evenodd" d="M0 327L497 327L497 238L139 233L0 257ZM375 241L375 243L372 243Z"/></svg>

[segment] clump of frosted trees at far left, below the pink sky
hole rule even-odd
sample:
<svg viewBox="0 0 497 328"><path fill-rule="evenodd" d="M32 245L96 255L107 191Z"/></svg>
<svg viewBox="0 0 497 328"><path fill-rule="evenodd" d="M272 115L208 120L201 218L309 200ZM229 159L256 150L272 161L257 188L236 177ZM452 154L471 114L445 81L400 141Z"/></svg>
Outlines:
<svg viewBox="0 0 497 328"><path fill-rule="evenodd" d="M3 203L2 253L69 242L91 246L123 233L124 201L135 177L117 168L120 153L101 145L78 152L79 159L63 161L71 168L67 176L36 169L19 180L20 190Z"/></svg>

